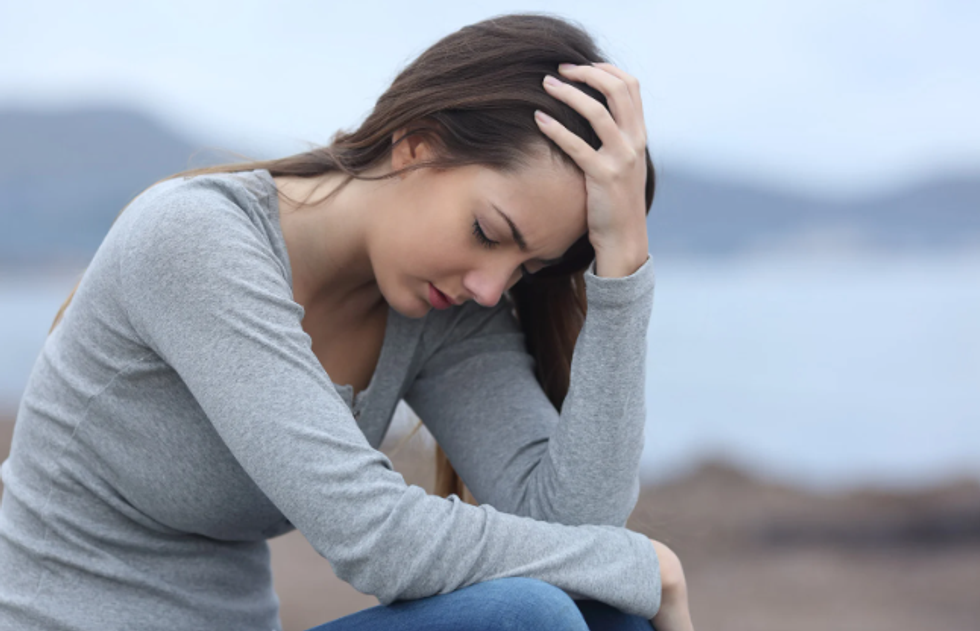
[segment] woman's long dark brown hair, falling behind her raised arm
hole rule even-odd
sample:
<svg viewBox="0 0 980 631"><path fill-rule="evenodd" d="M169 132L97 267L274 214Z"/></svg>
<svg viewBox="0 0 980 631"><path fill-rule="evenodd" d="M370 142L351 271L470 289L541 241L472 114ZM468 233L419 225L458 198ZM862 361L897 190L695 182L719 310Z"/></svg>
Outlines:
<svg viewBox="0 0 980 631"><path fill-rule="evenodd" d="M419 55L398 74L360 127L337 132L328 146L276 160L193 169L164 179L253 169L267 169L274 177L318 177L341 171L348 177L333 195L351 179L384 179L417 168L478 164L512 172L527 164L542 145L569 167L581 171L570 156L541 133L533 112L547 112L598 149L601 142L589 122L546 93L541 81L546 74L566 81L557 72L559 63L602 61L606 59L585 30L562 18L540 13L490 18L447 35ZM608 108L602 93L582 83L574 85ZM393 143L399 130L405 133ZM416 134L437 149L436 158L381 176L365 175L390 156L395 144ZM645 154L649 213L654 169L649 150ZM509 292L527 350L535 360L536 377L558 410L568 392L572 351L585 320L583 273L594 256L586 235L565 253L560 263L536 273L532 280L518 281ZM51 330L61 320L75 289L59 309ZM416 425L415 430L420 426L421 423ZM443 497L455 493L475 504L438 445L435 458L435 493Z"/></svg>

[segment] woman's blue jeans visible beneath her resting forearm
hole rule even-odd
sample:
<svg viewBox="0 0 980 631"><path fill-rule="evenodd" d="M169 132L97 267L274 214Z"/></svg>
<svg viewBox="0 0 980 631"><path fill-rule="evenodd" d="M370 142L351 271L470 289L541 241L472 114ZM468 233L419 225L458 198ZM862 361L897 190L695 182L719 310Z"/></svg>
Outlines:
<svg viewBox="0 0 980 631"><path fill-rule="evenodd" d="M532 578L501 578L448 594L399 600L308 631L650 631L646 618L572 600Z"/></svg>

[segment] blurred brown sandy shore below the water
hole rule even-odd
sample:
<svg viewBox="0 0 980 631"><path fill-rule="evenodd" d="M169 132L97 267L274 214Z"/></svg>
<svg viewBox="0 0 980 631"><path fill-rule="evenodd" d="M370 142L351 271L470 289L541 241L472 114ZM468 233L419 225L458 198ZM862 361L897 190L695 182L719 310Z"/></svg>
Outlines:
<svg viewBox="0 0 980 631"><path fill-rule="evenodd" d="M12 428L0 421L0 460ZM431 439L391 454L396 442L382 451L408 483L431 489ZM644 488L627 527L677 551L699 631L980 628L975 480L817 494L705 463ZM286 631L378 604L337 579L300 533L271 545Z"/></svg>

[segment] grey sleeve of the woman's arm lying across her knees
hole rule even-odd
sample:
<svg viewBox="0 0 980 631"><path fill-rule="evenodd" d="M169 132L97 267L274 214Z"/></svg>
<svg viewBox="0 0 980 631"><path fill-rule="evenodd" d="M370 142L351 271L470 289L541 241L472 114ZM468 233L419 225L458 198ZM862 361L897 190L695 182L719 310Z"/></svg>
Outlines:
<svg viewBox="0 0 980 631"><path fill-rule="evenodd" d="M656 614L659 563L645 536L547 523L407 485L313 354L266 235L226 197L175 193L166 204L131 207L116 230L125 238L118 300L133 330L342 580L389 604L524 576Z"/></svg>

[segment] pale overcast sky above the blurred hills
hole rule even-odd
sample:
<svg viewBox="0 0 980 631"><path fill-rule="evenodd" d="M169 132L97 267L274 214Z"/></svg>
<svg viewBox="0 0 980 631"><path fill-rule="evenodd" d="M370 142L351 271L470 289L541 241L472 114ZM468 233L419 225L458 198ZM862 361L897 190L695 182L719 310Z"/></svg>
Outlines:
<svg viewBox="0 0 980 631"><path fill-rule="evenodd" d="M0 107L130 104L285 155L359 123L443 35L515 11L577 21L640 79L662 170L830 195L980 173L973 0L3 2Z"/></svg>

